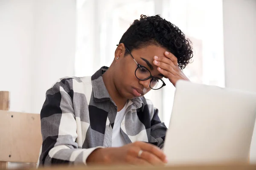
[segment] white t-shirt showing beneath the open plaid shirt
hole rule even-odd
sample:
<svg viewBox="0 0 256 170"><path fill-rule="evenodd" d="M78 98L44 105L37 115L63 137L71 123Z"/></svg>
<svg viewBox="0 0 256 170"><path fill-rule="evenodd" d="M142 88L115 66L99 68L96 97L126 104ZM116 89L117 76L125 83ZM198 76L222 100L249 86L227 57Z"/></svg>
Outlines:
<svg viewBox="0 0 256 170"><path fill-rule="evenodd" d="M121 123L125 116L125 110L129 102L126 102L124 108L116 113L116 119L112 131L112 147L121 147L126 144L124 136L121 133Z"/></svg>

